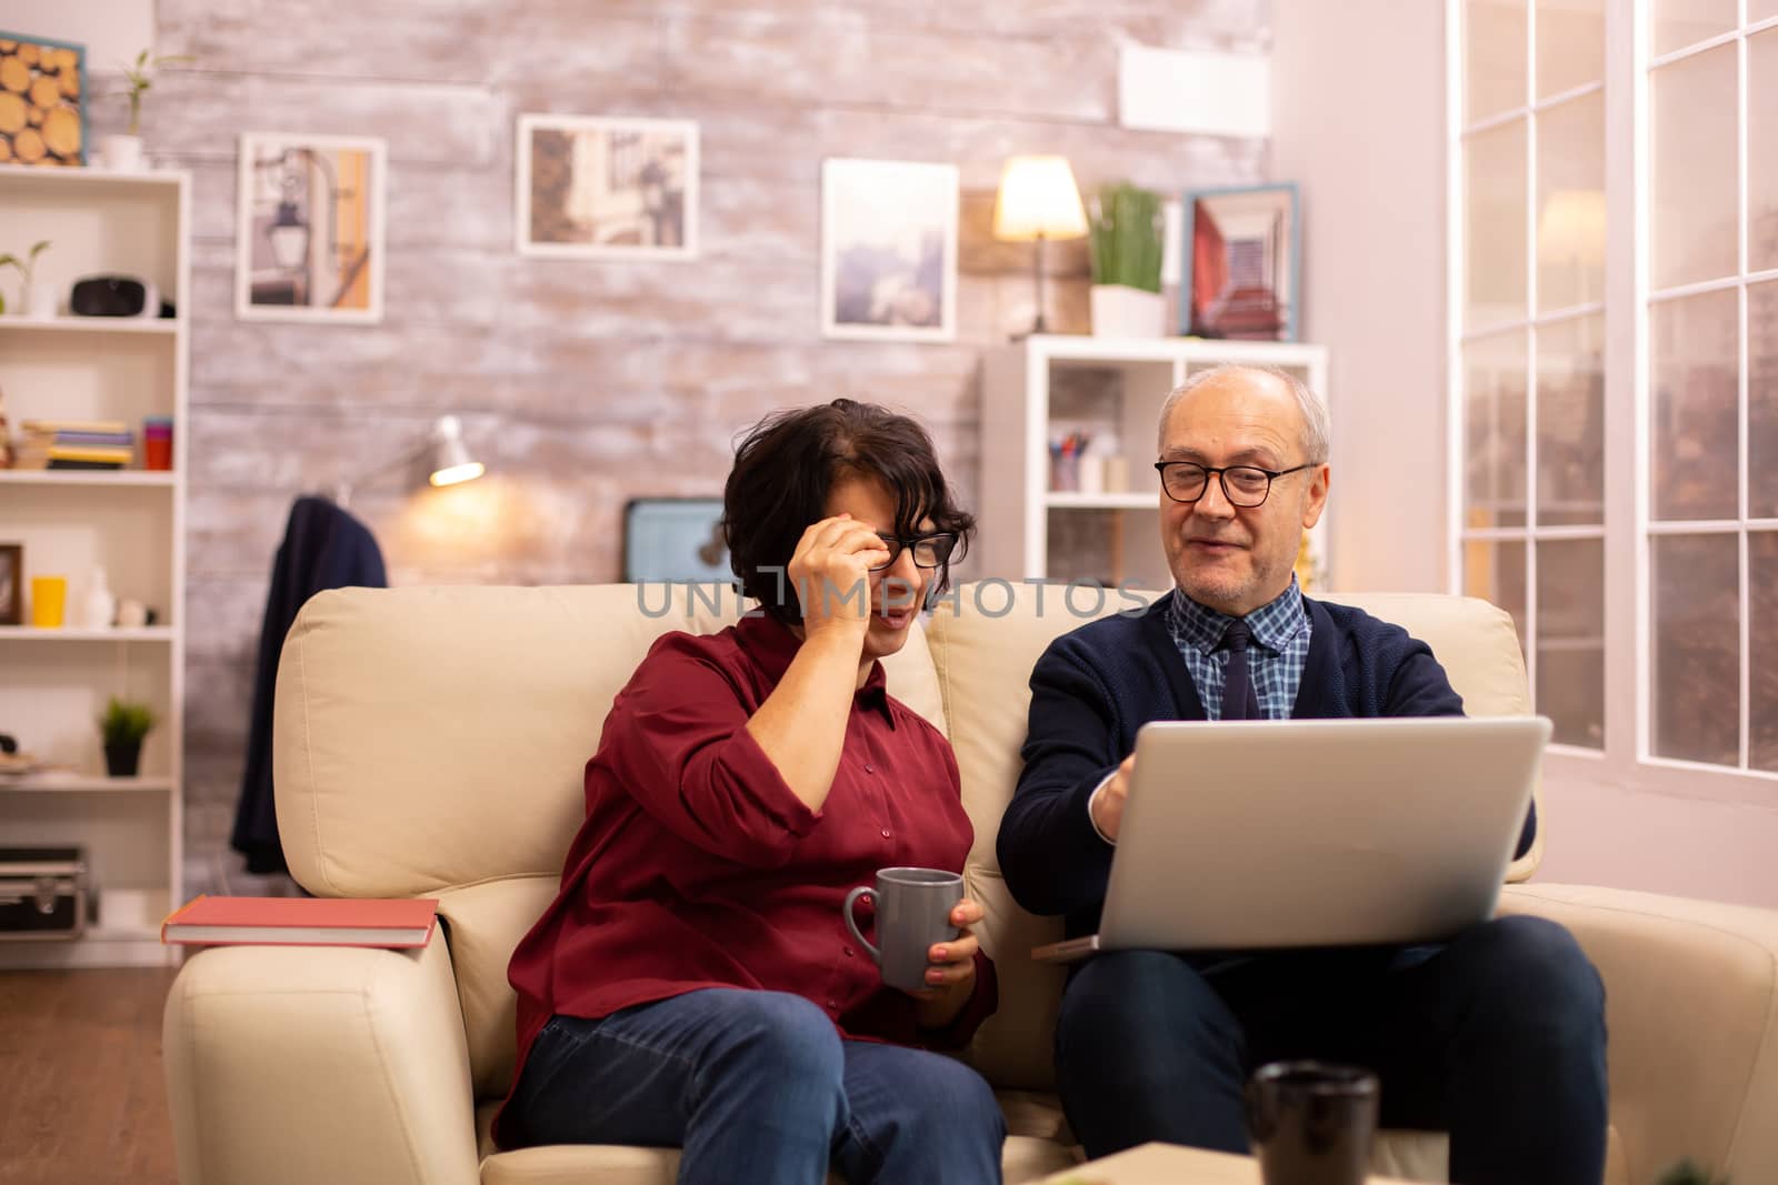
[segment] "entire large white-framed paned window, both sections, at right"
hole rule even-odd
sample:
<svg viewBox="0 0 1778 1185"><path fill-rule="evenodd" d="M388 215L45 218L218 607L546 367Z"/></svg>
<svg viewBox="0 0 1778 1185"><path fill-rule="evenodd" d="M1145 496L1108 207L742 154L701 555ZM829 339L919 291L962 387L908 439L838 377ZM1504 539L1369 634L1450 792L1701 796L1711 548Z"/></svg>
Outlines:
<svg viewBox="0 0 1778 1185"><path fill-rule="evenodd" d="M1566 752L1778 775L1778 0L1449 16L1456 583Z"/></svg>

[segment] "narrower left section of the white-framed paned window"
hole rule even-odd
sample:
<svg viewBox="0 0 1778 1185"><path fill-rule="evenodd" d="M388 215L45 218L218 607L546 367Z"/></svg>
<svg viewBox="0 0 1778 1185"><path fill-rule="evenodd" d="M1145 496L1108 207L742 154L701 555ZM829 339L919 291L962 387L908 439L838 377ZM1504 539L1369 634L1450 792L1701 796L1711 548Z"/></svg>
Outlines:
<svg viewBox="0 0 1778 1185"><path fill-rule="evenodd" d="M1606 743L1604 0L1462 4L1462 590L1556 741Z"/></svg>

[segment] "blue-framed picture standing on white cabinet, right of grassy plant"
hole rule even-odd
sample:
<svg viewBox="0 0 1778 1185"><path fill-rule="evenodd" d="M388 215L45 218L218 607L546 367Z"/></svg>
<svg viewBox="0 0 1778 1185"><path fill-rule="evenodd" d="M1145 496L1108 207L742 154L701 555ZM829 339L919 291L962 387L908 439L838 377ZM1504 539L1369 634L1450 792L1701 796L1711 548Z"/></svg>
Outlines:
<svg viewBox="0 0 1778 1185"><path fill-rule="evenodd" d="M1296 341L1303 254L1296 187L1193 190L1184 215L1179 332Z"/></svg>

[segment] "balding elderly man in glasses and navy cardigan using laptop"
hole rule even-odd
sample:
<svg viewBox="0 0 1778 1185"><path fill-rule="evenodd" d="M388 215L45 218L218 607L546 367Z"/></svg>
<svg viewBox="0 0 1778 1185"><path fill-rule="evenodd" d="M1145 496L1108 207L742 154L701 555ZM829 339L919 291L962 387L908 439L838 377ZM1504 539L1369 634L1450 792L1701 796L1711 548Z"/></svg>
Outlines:
<svg viewBox="0 0 1778 1185"><path fill-rule="evenodd" d="M1161 409L1159 444L1175 590L1038 661L999 830L1013 897L1067 915L1070 938L1099 927L1143 723L1463 712L1426 643L1296 585L1330 478L1326 410L1303 384L1264 368L1197 375ZM1239 792L1181 780L1182 794ZM1520 851L1534 828L1527 817ZM1143 1141L1246 1151L1243 1080L1289 1057L1376 1070L1385 1125L1451 1133L1453 1181L1604 1173L1604 990L1540 919L1437 947L1101 954L1074 970L1056 1025L1063 1107L1090 1157Z"/></svg>

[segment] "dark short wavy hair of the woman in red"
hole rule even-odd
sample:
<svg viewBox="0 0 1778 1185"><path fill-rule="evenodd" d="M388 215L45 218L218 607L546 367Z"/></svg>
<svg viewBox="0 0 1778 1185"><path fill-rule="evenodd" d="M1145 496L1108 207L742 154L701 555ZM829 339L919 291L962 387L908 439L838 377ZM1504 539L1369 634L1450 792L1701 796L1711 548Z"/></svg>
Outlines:
<svg viewBox="0 0 1778 1185"><path fill-rule="evenodd" d="M894 496L894 533L912 537L923 521L953 531L960 560L976 529L944 483L932 437L909 416L875 403L834 400L766 416L734 449L722 490L722 531L741 593L757 597L772 616L795 625L802 606L786 569L811 522L827 517L827 496L846 478L875 478ZM939 567L928 590L951 583Z"/></svg>

